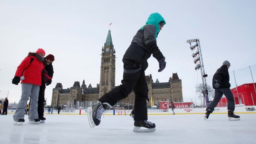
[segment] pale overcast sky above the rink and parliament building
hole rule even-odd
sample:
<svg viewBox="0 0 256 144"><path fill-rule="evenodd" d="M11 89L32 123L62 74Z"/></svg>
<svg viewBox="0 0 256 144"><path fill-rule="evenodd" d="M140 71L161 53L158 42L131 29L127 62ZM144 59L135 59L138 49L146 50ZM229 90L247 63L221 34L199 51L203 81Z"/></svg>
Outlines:
<svg viewBox="0 0 256 144"><path fill-rule="evenodd" d="M64 89L75 81L82 85L83 80L87 86L96 87L100 82L101 49L109 28L116 49L118 86L123 73L122 56L154 12L166 20L157 45L167 62L166 69L159 73L157 60L148 59L145 74L152 74L154 82L157 78L168 82L177 72L184 101L194 101L195 86L202 83L202 78L200 70L194 70L191 55L195 51L186 41L200 39L208 84L224 60L230 61L230 72L247 67L248 73L242 72L236 79L242 81L246 76L250 80L241 84L252 83L248 66L256 64L255 6L255 0L0 0L0 98L5 97L3 90L9 90L9 103L18 103L21 85L12 84L12 78L28 52L38 48L55 56L52 84L45 91L48 105L58 82Z"/></svg>

